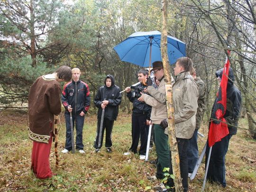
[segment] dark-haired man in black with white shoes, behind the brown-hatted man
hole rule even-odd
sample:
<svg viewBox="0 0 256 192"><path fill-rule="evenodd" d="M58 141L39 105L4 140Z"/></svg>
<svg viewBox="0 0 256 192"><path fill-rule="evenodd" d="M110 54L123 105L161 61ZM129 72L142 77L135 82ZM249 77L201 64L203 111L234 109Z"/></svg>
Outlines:
<svg viewBox="0 0 256 192"><path fill-rule="evenodd" d="M147 143L147 131L146 128L150 121L151 107L145 102L137 100L141 96L140 92L146 88L146 78L148 77L147 70L138 71L138 80L140 82L136 87L127 87L125 91L127 92L128 99L133 103L132 109L132 145L128 152L124 155L129 155L130 152L137 153L138 142L140 139L140 149L139 149L139 159L145 159L146 155L146 143ZM131 88L134 91L131 91Z"/></svg>

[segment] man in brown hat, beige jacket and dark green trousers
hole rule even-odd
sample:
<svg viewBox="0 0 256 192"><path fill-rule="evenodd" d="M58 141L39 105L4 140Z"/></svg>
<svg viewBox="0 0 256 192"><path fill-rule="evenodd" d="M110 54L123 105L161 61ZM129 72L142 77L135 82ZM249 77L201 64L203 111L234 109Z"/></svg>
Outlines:
<svg viewBox="0 0 256 192"><path fill-rule="evenodd" d="M142 93L139 101L145 101L146 104L152 106L151 117L152 124L154 124L155 134L155 150L158 157L156 174L149 177L150 180L165 178L164 168L169 168L169 174L173 174L171 165L171 153L168 142L168 127L163 128L160 123L167 118L166 99L165 99L165 76L162 61L155 61L153 69L156 79L160 82L157 89L153 86L151 78L148 78L147 90L148 94ZM171 189L166 189L166 186ZM175 191L174 180L168 178L167 182L156 186L155 189L160 191Z"/></svg>

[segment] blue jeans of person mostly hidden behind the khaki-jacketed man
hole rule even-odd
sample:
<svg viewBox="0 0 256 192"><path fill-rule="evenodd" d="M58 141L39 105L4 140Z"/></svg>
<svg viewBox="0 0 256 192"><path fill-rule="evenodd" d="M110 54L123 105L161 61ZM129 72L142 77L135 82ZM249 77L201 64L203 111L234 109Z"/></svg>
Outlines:
<svg viewBox="0 0 256 192"><path fill-rule="evenodd" d="M195 129L192 138L188 142L187 157L188 157L189 173L193 172L198 159L197 132L198 132L198 129Z"/></svg>

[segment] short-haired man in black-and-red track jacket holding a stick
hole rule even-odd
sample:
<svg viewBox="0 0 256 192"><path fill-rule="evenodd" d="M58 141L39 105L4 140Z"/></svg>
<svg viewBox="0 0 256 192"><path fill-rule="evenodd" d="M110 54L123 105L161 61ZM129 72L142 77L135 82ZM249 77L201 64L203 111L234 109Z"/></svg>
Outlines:
<svg viewBox="0 0 256 192"><path fill-rule="evenodd" d="M84 115L90 108L90 90L86 83L79 80L81 75L79 68L72 69L72 81L64 85L61 96L61 101L66 109L66 142L65 149L61 152L67 153L72 150L71 143L71 127L70 127L70 112L72 112L73 127L75 123L76 129L76 149L80 153L84 153L82 143L82 128L84 122Z"/></svg>

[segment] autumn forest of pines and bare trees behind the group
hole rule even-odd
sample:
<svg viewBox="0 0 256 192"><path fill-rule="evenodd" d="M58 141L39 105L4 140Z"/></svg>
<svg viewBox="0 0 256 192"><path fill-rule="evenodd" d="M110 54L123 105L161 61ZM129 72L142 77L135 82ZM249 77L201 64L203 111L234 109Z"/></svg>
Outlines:
<svg viewBox="0 0 256 192"><path fill-rule="evenodd" d="M241 141L255 140L256 1L168 3L168 34L187 44L187 56L206 84L206 127L219 88L215 72L223 67L224 50L229 47L235 85L242 93L243 119L238 132L245 135ZM26 111L31 84L62 65L81 69L81 80L88 83L92 100L108 74L115 76L122 90L137 83L139 67L120 61L113 47L134 32L161 31L161 8L161 0L1 0L0 109ZM122 114L131 109L123 94ZM96 113L93 104L89 113Z"/></svg>

